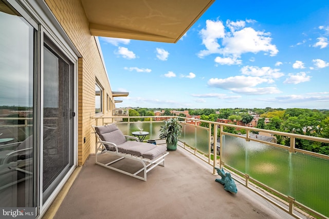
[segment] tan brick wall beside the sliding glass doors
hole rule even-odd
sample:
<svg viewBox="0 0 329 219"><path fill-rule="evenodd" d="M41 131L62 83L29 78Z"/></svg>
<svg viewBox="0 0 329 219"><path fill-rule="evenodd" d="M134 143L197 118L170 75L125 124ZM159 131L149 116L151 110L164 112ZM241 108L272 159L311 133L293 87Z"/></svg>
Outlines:
<svg viewBox="0 0 329 219"><path fill-rule="evenodd" d="M106 94L113 101L111 87L106 77L94 36L90 35L88 21L80 0L45 0L50 10L81 54L78 60L78 164L83 165L90 153L95 153L96 78L103 89L103 112L106 113ZM111 109L114 103L111 103ZM83 142L83 138L86 142Z"/></svg>

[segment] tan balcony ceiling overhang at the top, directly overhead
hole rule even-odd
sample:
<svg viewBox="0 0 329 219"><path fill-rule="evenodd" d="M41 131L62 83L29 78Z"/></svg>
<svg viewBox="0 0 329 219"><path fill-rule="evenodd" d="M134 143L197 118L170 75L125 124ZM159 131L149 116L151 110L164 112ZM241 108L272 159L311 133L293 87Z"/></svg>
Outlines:
<svg viewBox="0 0 329 219"><path fill-rule="evenodd" d="M81 0L92 35L176 43L215 0Z"/></svg>

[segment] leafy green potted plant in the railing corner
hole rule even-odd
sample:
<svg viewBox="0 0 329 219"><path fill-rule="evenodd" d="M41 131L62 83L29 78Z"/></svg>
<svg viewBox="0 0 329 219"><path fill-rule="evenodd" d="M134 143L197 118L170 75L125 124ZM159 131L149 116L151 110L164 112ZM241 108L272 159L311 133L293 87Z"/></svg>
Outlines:
<svg viewBox="0 0 329 219"><path fill-rule="evenodd" d="M178 138L181 135L181 124L175 118L165 121L161 126L159 138L166 139L167 150L175 151L177 149Z"/></svg>

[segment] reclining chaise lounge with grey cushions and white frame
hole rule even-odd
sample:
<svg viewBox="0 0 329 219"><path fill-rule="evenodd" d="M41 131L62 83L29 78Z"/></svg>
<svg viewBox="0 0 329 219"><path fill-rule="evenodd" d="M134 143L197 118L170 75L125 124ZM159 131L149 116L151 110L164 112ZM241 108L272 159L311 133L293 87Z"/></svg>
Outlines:
<svg viewBox="0 0 329 219"><path fill-rule="evenodd" d="M147 180L147 173L150 170L158 165L165 166L165 157L169 154L165 145L139 142L137 137L123 135L115 123L104 126L93 125L93 128L99 140L96 143L96 163L98 165L144 181ZM97 158L102 153L117 155L119 158L102 163ZM140 162L142 168L135 173L130 173L113 166L114 163L124 158ZM143 172L142 176L137 175L141 172Z"/></svg>

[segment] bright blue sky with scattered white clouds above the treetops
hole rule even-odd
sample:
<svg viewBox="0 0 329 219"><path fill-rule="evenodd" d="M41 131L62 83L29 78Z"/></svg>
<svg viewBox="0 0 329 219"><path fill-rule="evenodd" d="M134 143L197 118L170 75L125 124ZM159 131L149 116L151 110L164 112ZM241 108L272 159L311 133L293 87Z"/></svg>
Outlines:
<svg viewBox="0 0 329 219"><path fill-rule="evenodd" d="M99 38L116 107L329 109L329 1L216 1L176 43Z"/></svg>

